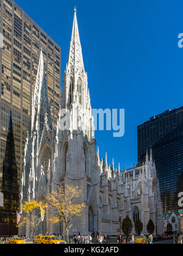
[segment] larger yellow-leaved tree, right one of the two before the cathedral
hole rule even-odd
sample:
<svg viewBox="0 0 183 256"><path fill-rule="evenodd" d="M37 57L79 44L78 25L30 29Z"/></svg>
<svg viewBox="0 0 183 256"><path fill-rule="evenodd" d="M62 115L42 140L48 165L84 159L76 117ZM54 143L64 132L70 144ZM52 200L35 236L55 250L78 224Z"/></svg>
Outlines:
<svg viewBox="0 0 183 256"><path fill-rule="evenodd" d="M84 203L78 204L77 199L81 195L78 187L62 186L57 191L53 191L48 195L48 205L52 206L56 211L56 216L50 219L53 224L63 222L65 224L65 232L67 241L69 240L69 232L72 225L70 222L74 216L82 216L82 211L85 208Z"/></svg>

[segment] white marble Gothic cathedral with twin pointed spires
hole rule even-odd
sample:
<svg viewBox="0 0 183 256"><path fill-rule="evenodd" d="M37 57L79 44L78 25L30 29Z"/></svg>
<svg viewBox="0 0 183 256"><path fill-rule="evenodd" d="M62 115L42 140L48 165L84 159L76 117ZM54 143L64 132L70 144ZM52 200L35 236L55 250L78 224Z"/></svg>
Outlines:
<svg viewBox="0 0 183 256"><path fill-rule="evenodd" d="M63 129L67 115L63 114L63 109L70 112L67 130ZM152 154L146 156L142 167L122 171L120 166L117 170L114 163L112 166L107 163L107 155L105 160L101 160L99 150L96 153L76 10L56 131L49 109L43 53L40 52L32 119L25 148L21 202L44 200L46 194L62 183L78 186L82 190L79 202L87 205L82 217L73 220L71 234L81 232L87 235L91 230L106 235L117 234L119 215L122 219L129 215L132 222L140 218L143 233L147 233L146 225L152 219L156 225L155 233L162 233L162 203ZM49 222L52 214L51 211L46 214L38 233L64 233L62 224L52 225Z"/></svg>

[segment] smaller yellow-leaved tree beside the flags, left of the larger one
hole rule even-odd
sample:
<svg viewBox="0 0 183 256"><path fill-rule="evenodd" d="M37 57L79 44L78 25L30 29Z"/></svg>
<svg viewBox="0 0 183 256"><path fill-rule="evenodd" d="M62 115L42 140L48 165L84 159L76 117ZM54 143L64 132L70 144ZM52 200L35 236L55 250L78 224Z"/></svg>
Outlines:
<svg viewBox="0 0 183 256"><path fill-rule="evenodd" d="M18 227L29 227L30 233L35 236L35 232L38 229L40 222L43 221L47 205L42 202L31 200L30 202L23 203L24 215L21 217L21 222Z"/></svg>

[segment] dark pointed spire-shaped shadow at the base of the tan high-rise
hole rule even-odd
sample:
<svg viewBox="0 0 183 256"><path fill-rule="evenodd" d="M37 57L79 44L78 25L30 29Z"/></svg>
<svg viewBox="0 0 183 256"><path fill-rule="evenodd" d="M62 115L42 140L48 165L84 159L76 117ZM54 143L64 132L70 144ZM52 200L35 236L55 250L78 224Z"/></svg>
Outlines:
<svg viewBox="0 0 183 256"><path fill-rule="evenodd" d="M18 235L16 211L20 209L20 202L12 112L10 113L9 131L3 163L2 194L4 196L4 207L0 207L0 235Z"/></svg>

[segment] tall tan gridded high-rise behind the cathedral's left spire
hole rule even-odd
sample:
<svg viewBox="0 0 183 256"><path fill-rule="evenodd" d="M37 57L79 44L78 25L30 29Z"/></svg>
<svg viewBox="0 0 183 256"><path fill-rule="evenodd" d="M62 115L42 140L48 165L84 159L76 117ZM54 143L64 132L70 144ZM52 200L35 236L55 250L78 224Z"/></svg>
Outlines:
<svg viewBox="0 0 183 256"><path fill-rule="evenodd" d="M52 120L56 124L60 102L61 49L12 0L0 0L0 191L2 169L12 111L15 157L20 184L24 146L31 115L40 48L43 49L48 99Z"/></svg>

